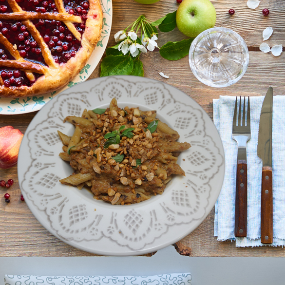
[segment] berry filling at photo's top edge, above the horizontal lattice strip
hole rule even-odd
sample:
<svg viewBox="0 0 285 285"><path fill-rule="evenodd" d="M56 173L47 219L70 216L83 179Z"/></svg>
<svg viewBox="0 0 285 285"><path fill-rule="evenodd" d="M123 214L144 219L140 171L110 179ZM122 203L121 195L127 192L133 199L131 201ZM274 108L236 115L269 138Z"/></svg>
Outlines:
<svg viewBox="0 0 285 285"><path fill-rule="evenodd" d="M35 11L38 13L58 12L53 0L16 0L24 11Z"/></svg>

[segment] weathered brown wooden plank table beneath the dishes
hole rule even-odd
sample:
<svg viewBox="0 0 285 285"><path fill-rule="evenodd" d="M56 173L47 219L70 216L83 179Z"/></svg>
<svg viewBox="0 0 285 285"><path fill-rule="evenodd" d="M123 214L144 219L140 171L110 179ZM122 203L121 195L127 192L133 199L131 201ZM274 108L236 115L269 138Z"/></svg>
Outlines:
<svg viewBox="0 0 285 285"><path fill-rule="evenodd" d="M140 57L145 70L145 77L156 79L185 92L212 118L212 99L219 95L265 95L268 86L274 87L274 95L285 94L285 52L280 57L273 57L259 51L263 30L271 26L273 35L266 42L285 46L285 1L262 0L259 7L250 10L247 0L213 0L216 8L216 27L226 27L239 33L249 49L249 66L243 78L236 84L215 89L203 85L192 74L188 57L173 62L162 58L159 52L148 52ZM113 0L113 24L108 46L113 46L114 34L124 29L141 14L156 20L178 8L175 0L161 0L152 5L143 5L133 0ZM233 8L235 14L230 16L228 10ZM262 15L262 9L268 8L268 17ZM167 41L185 38L176 28L170 33L160 33L158 45ZM158 75L163 72L170 78ZM95 69L90 78L98 77L100 67ZM0 127L11 125L25 132L36 113L20 115L0 115ZM71 247L58 240L43 228L25 202L20 201L17 167L0 170L0 179L14 179L15 183L8 192L10 203L0 199L0 256L92 256L93 254ZM1 197L5 190L0 190ZM176 243L177 250L189 256L285 256L282 247L236 248L235 243L218 242L213 236L214 210L206 220L190 235Z"/></svg>

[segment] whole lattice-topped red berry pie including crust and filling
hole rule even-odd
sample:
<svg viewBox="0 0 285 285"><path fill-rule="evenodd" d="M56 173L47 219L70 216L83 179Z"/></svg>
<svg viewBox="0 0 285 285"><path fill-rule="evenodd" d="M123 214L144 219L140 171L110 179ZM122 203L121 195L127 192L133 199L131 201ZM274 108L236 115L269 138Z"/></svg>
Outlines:
<svg viewBox="0 0 285 285"><path fill-rule="evenodd" d="M0 0L0 97L67 84L91 56L101 28L98 0Z"/></svg>

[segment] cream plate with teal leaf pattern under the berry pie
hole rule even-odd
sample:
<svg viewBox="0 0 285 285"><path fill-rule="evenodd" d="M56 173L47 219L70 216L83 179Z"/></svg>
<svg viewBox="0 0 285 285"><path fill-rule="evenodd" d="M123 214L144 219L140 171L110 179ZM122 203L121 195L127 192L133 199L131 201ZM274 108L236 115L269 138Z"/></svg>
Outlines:
<svg viewBox="0 0 285 285"><path fill-rule="evenodd" d="M1 115L16 115L25 114L38 111L48 101L54 98L64 90L84 82L95 70L101 57L103 56L108 39L110 37L111 25L112 25L112 0L100 0L102 12L103 12L103 24L101 38L97 42L97 45L87 61L86 65L79 72L79 74L73 78L66 86L57 91L53 91L43 95L28 96L22 98L4 98L0 97L0 114Z"/></svg>

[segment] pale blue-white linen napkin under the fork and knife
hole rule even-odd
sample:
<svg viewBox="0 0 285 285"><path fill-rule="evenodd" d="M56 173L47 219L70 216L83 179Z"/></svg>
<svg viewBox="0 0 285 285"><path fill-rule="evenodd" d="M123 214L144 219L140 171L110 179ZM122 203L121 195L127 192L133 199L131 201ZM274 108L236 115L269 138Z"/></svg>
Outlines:
<svg viewBox="0 0 285 285"><path fill-rule="evenodd" d="M214 236L218 241L235 240L236 247L264 246L260 242L262 160L257 156L259 118L264 97L250 97L251 138L247 142L246 238L234 236L237 143L232 139L231 133L236 97L220 96L220 99L213 100L214 124L222 139L226 164L223 187L215 204ZM272 119L273 244L271 246L285 245L284 165L285 96L274 96Z"/></svg>

